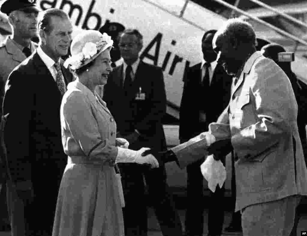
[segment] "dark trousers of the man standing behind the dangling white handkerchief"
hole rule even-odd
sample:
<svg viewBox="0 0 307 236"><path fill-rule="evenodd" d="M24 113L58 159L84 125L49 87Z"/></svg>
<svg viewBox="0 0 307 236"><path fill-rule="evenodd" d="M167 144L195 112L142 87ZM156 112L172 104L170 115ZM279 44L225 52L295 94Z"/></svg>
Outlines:
<svg viewBox="0 0 307 236"><path fill-rule="evenodd" d="M203 235L204 228L204 177L200 171L200 165L204 162L201 159L187 166L187 210L185 214L185 232L188 236ZM225 159L222 160L225 165ZM225 187L216 187L213 193L210 191L208 202L208 233L220 235L223 229L224 208L221 207L224 201Z"/></svg>

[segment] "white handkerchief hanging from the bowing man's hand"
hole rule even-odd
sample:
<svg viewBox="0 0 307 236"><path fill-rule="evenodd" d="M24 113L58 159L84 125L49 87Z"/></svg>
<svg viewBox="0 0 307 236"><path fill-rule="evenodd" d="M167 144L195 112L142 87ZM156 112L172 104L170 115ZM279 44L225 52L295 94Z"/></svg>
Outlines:
<svg viewBox="0 0 307 236"><path fill-rule="evenodd" d="M220 160L216 161L213 155L210 155L200 165L200 170L204 178L208 181L208 188L212 192L215 192L217 184L222 188L226 180L226 169Z"/></svg>

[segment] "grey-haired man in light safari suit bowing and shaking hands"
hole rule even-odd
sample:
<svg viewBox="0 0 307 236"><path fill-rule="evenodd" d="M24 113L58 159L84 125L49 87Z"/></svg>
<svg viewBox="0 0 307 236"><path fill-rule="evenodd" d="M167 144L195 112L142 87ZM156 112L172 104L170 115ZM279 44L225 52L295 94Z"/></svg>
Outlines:
<svg viewBox="0 0 307 236"><path fill-rule="evenodd" d="M287 236L300 197L307 195L297 102L289 78L256 51L255 42L251 25L239 19L218 30L213 39L218 63L235 76L230 103L209 132L174 147L168 158L162 156L184 168L212 142L209 149L224 151L220 140L228 139L235 153L235 211L242 213L243 235ZM171 152L176 158L170 158Z"/></svg>

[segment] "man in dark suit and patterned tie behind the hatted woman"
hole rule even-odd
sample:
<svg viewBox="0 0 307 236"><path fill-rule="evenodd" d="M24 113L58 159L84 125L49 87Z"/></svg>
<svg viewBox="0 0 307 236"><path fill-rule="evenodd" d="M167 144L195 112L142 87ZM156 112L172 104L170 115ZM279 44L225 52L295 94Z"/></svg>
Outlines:
<svg viewBox="0 0 307 236"><path fill-rule="evenodd" d="M72 24L64 11L48 9L37 28L40 46L10 74L3 102L13 236L51 235L67 162L59 114L71 78L63 76L60 56L68 52Z"/></svg>

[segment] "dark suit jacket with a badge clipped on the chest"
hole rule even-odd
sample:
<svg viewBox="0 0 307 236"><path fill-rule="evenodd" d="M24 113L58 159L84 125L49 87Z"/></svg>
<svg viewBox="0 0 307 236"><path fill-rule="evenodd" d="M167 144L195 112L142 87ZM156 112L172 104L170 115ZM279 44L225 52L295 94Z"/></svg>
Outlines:
<svg viewBox="0 0 307 236"><path fill-rule="evenodd" d="M114 116L117 131L122 135L141 133L138 143L132 148L149 147L166 149L165 135L161 119L166 112L166 95L162 70L140 61L133 81L130 98L123 90L123 65L113 69L104 88L103 100ZM145 100L135 100L139 88L145 93Z"/></svg>

